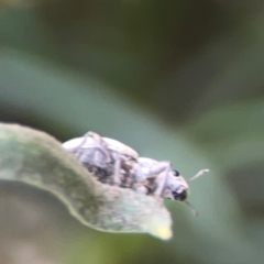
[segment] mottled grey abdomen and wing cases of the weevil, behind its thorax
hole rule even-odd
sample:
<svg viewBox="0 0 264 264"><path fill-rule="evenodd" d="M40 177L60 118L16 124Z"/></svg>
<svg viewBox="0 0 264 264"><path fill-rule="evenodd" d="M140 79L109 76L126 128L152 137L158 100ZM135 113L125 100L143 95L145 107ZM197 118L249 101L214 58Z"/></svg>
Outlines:
<svg viewBox="0 0 264 264"><path fill-rule="evenodd" d="M131 147L101 138L94 132L68 141L63 146L72 152L99 182L122 188L134 188L133 175L139 155Z"/></svg>

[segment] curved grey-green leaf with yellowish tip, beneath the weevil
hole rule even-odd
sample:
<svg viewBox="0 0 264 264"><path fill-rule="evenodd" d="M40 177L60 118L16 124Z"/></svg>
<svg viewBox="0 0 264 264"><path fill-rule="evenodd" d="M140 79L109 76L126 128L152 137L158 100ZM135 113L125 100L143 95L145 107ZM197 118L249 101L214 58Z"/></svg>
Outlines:
<svg viewBox="0 0 264 264"><path fill-rule="evenodd" d="M164 240L172 237L170 216L162 202L96 182L52 136L0 124L0 179L51 191L84 224L107 232L147 232Z"/></svg>

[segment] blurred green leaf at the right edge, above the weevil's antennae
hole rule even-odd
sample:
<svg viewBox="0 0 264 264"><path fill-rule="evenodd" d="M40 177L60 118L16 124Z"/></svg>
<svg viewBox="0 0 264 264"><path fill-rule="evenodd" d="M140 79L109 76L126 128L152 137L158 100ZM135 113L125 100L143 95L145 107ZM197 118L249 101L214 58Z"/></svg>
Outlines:
<svg viewBox="0 0 264 264"><path fill-rule="evenodd" d="M264 156L264 100L217 108L193 122L186 131L223 168L262 163Z"/></svg>

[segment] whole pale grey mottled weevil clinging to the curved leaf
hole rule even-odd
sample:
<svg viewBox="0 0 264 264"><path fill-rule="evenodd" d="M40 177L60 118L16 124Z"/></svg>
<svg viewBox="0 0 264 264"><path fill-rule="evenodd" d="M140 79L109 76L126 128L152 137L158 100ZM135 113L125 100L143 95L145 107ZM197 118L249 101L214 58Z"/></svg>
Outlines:
<svg viewBox="0 0 264 264"><path fill-rule="evenodd" d="M140 157L130 146L95 132L65 142L63 148L73 153L103 184L187 202L189 185L169 162ZM201 169L191 179L206 172L209 169Z"/></svg>

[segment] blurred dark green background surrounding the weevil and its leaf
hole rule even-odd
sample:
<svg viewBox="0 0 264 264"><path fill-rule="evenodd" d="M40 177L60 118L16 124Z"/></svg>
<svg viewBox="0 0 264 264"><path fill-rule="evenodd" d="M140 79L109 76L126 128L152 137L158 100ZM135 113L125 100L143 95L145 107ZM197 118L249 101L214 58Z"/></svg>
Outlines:
<svg viewBox="0 0 264 264"><path fill-rule="evenodd" d="M174 238L81 226L0 184L1 264L264 263L264 2L1 0L0 120L59 141L96 131L172 161L199 211Z"/></svg>

